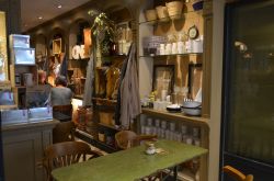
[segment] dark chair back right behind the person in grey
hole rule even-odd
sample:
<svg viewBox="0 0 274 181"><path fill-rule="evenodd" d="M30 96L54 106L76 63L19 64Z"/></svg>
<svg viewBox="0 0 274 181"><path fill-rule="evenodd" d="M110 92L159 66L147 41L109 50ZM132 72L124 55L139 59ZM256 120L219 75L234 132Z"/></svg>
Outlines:
<svg viewBox="0 0 274 181"><path fill-rule="evenodd" d="M60 122L71 121L72 117L72 104L68 105L54 105L53 116Z"/></svg>

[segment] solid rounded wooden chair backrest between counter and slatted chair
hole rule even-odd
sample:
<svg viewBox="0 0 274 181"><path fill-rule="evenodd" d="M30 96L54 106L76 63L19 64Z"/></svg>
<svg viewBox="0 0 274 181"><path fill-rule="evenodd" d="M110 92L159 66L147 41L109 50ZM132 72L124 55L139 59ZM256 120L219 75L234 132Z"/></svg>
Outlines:
<svg viewBox="0 0 274 181"><path fill-rule="evenodd" d="M73 122L60 122L53 129L53 143L75 140L76 124Z"/></svg>

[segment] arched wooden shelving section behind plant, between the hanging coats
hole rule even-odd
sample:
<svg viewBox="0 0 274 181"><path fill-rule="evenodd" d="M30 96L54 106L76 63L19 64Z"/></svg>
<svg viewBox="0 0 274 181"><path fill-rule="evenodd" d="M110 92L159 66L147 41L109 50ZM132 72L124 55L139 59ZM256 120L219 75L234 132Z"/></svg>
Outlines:
<svg viewBox="0 0 274 181"><path fill-rule="evenodd" d="M136 34L133 33L136 26L130 12L123 5L111 10L107 16L114 22L114 35L110 38L110 35L106 34L101 47L96 47L92 98L94 112L92 122L95 124L92 126L95 126L95 132L89 124L84 132L92 136L90 142L95 146L112 152L117 150L114 135L121 131L119 126L114 123L121 69L127 58L126 52L129 42L136 39ZM84 136L84 134L82 135Z"/></svg>

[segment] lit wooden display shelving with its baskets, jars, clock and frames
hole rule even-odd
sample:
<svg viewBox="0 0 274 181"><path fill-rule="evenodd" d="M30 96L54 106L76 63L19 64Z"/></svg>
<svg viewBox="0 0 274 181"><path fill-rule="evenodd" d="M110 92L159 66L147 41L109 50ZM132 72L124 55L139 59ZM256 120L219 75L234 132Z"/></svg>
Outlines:
<svg viewBox="0 0 274 181"><path fill-rule="evenodd" d="M139 90L144 108L138 131L208 148L212 7L210 0L203 3L161 0L141 5ZM187 126L187 133L181 125ZM193 135L196 127L198 137ZM206 180L207 157L198 159L198 168L196 163L192 160L182 167L194 173L192 179Z"/></svg>

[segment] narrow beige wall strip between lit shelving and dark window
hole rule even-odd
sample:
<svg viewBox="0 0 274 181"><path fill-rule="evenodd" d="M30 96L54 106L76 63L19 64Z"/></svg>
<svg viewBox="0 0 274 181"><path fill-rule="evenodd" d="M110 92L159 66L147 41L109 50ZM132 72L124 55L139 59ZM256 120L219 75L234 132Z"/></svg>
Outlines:
<svg viewBox="0 0 274 181"><path fill-rule="evenodd" d="M219 143L221 122L221 78L224 52L224 13L225 0L213 1L213 60L212 60L212 105L209 121L209 165L208 181L218 181Z"/></svg>

